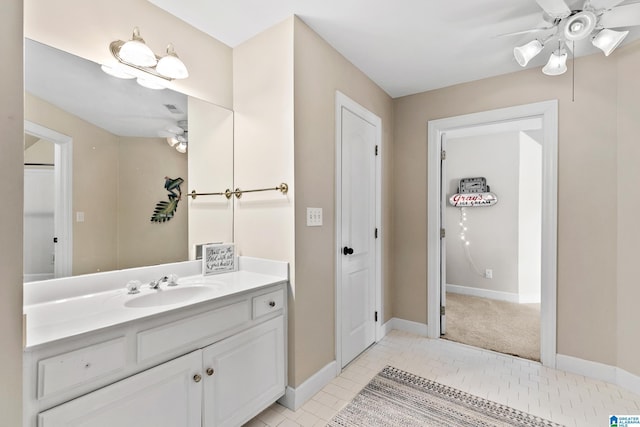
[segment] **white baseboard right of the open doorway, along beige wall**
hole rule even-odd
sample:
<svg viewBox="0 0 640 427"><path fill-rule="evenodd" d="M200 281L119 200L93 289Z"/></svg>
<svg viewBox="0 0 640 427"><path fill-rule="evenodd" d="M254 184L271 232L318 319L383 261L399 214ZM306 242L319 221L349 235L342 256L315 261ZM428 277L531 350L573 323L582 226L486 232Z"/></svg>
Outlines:
<svg viewBox="0 0 640 427"><path fill-rule="evenodd" d="M605 381L640 394L640 377L617 366L592 362L564 354L556 355L556 368L587 378Z"/></svg>

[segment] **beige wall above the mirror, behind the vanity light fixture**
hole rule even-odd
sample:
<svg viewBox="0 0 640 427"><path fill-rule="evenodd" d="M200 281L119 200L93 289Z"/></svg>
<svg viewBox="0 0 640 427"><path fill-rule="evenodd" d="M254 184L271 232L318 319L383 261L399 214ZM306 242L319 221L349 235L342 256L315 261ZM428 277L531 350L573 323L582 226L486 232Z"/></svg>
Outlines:
<svg viewBox="0 0 640 427"><path fill-rule="evenodd" d="M115 59L114 40L128 40L133 27L156 53L173 43L189 78L172 89L231 108L231 48L146 0L26 0L25 37L105 64Z"/></svg>

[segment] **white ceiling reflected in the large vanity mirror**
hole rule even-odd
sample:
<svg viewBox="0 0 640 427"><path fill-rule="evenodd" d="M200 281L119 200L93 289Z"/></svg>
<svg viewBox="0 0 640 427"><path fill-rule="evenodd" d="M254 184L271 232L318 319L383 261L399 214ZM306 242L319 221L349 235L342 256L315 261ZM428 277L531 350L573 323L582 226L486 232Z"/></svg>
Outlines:
<svg viewBox="0 0 640 427"><path fill-rule="evenodd" d="M30 39L25 39L25 89L118 136L158 137L187 119L186 95L109 76L94 62ZM176 108L172 112L167 105Z"/></svg>

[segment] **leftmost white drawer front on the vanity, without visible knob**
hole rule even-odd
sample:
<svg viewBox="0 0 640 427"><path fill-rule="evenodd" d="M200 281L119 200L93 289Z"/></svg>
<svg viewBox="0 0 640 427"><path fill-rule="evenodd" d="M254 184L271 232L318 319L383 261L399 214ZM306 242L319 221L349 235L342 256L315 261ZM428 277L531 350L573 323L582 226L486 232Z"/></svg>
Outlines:
<svg viewBox="0 0 640 427"><path fill-rule="evenodd" d="M38 399L113 374L125 367L124 337L38 362Z"/></svg>

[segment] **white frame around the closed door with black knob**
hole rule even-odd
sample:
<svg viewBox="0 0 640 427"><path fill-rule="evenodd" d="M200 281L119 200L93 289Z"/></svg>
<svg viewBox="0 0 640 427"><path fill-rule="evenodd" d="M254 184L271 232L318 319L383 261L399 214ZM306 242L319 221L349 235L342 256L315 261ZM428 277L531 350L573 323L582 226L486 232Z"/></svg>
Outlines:
<svg viewBox="0 0 640 427"><path fill-rule="evenodd" d="M378 147L378 155L375 159L375 227L378 229L378 238L375 239L375 310L378 312L378 321L375 324L375 342L383 337L383 319L384 313L382 308L382 241L384 239L384 231L382 229L382 120L351 98L340 91L336 91L336 199L335 199L335 316L336 316L336 374L342 372L342 108L347 108L356 115L362 117L376 128L376 146Z"/></svg>

